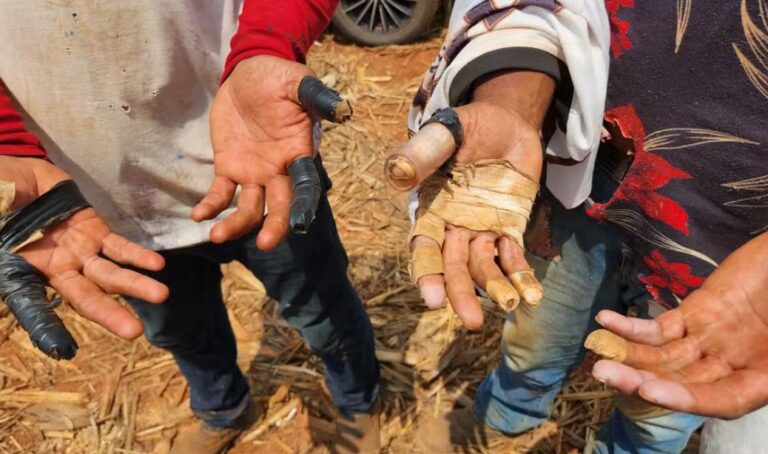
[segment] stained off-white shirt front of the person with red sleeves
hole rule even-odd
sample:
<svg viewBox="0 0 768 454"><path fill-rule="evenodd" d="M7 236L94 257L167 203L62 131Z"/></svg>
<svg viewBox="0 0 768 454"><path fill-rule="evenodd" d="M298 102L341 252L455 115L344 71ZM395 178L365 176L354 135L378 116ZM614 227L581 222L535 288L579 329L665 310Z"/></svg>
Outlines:
<svg viewBox="0 0 768 454"><path fill-rule="evenodd" d="M0 0L0 78L115 233L207 241L208 114L242 0Z"/></svg>

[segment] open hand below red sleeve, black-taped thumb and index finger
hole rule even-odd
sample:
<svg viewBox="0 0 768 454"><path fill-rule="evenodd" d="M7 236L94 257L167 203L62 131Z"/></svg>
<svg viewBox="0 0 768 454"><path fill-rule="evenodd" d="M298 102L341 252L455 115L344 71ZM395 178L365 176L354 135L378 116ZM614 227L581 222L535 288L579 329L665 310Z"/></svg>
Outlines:
<svg viewBox="0 0 768 454"><path fill-rule="evenodd" d="M265 203L269 215L257 237L261 249L273 249L282 241L289 220L299 231L311 222L322 190L308 162L313 117L337 122L348 118L343 109L335 111L342 103L338 94L311 76L305 65L259 55L238 63L219 88L211 111L216 176L192 218L213 219L229 207L238 185L242 192L235 211L211 230L214 243L256 227L264 218ZM303 201L292 200L294 188L307 187L300 194Z"/></svg>

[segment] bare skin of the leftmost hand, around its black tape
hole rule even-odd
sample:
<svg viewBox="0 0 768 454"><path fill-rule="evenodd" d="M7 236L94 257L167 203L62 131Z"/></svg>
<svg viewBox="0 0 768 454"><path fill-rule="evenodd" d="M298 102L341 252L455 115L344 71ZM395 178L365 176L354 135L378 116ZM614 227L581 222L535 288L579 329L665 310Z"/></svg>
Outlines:
<svg viewBox="0 0 768 454"><path fill-rule="evenodd" d="M24 206L69 176L37 158L0 156L0 180L15 183L12 209ZM121 263L160 270L163 258L112 233L92 209L82 210L18 251L82 316L125 339L142 333L141 322L108 294L161 303L168 289ZM100 256L103 255L102 256ZM106 257L106 258L105 258Z"/></svg>

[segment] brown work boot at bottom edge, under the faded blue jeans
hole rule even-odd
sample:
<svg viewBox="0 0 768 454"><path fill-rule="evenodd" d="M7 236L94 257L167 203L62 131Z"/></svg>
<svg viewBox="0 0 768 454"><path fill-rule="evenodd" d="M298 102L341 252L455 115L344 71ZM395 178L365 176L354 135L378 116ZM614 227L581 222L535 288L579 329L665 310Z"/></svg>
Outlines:
<svg viewBox="0 0 768 454"><path fill-rule="evenodd" d="M494 430L475 416L472 408L464 408L430 418L420 424L416 447L425 454L488 452L529 452L545 438L557 433L557 424L546 421L521 435L506 435Z"/></svg>

